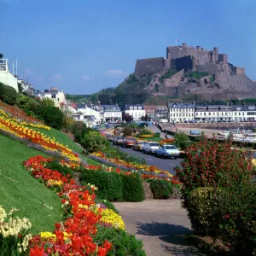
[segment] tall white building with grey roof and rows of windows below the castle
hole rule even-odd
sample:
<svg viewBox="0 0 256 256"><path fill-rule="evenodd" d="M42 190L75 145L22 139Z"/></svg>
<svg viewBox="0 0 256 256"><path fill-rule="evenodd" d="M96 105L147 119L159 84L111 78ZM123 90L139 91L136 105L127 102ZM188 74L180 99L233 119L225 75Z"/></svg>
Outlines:
<svg viewBox="0 0 256 256"><path fill-rule="evenodd" d="M169 122L181 123L195 119L195 104L193 103L168 103Z"/></svg>

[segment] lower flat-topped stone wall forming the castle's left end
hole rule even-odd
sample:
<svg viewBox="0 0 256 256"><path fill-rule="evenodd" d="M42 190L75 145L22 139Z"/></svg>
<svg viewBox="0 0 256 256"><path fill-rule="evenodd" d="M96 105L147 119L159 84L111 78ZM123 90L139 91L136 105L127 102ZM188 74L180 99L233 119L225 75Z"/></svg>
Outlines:
<svg viewBox="0 0 256 256"><path fill-rule="evenodd" d="M159 73L164 69L164 58L151 58L136 61L135 72L137 74Z"/></svg>

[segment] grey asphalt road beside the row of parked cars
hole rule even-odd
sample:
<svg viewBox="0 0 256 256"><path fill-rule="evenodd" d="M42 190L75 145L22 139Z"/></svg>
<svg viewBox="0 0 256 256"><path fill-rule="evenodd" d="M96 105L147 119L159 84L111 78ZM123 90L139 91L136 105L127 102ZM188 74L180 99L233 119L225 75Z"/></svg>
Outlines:
<svg viewBox="0 0 256 256"><path fill-rule="evenodd" d="M132 148L122 148L119 147L121 150L125 151L127 154L135 154L143 157L146 160L147 165L149 166L157 166L162 170L170 172L171 174L175 175L173 168L175 166L180 166L180 163L183 161L181 158L175 159L161 159L159 157L155 157L154 155L150 154L143 154L141 151L135 151Z"/></svg>

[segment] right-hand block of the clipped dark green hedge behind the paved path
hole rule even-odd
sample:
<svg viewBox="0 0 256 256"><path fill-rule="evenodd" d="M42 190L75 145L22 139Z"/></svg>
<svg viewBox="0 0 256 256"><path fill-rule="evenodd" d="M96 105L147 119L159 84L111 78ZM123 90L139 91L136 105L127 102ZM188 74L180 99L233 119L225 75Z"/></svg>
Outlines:
<svg viewBox="0 0 256 256"><path fill-rule="evenodd" d="M120 174L123 184L123 200L124 201L143 201L144 189L142 179L134 174Z"/></svg>

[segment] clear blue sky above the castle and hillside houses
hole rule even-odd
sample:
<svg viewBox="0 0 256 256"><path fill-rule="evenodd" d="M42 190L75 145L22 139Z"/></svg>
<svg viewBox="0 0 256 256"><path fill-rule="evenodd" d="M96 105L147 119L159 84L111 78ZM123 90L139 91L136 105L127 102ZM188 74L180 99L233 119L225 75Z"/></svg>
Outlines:
<svg viewBox="0 0 256 256"><path fill-rule="evenodd" d="M217 46L256 79L255 9L255 0L0 0L0 52L35 88L72 94L119 85L176 38Z"/></svg>

